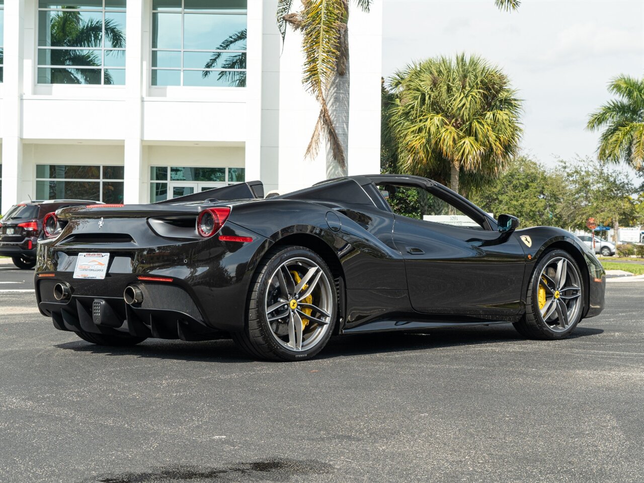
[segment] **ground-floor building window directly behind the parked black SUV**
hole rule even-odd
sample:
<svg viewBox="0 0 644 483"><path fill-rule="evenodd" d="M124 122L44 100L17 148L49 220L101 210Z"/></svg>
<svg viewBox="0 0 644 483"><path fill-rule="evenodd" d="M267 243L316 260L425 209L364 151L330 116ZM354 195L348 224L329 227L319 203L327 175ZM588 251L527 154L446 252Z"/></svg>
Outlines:
<svg viewBox="0 0 644 483"><path fill-rule="evenodd" d="M36 165L39 200L123 202L123 166Z"/></svg>

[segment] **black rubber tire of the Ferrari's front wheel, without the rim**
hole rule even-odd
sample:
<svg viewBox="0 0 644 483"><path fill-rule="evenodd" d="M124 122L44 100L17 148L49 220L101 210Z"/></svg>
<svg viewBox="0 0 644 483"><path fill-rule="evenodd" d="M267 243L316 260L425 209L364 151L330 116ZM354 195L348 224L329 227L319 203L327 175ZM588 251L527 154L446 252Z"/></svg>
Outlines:
<svg viewBox="0 0 644 483"><path fill-rule="evenodd" d="M573 265L573 267L577 270L581 287L579 300L579 303L581 304L580 309L577 310L577 314L574 317L575 319L571 321L570 326L562 332L556 332L548 323L544 321L544 317L542 317L541 315L538 301L539 277L544 267L551 263L554 258L565 258L565 260ZM563 250L553 250L544 253L539 263L536 264L535 270L533 271L530 283L527 288L526 314L524 314L520 321L513 323L516 331L522 336L527 337L528 339L557 340L565 339L566 337L568 337L571 332L573 332L574 328L577 327L579 321L582 319L583 303L585 301L585 287L582 281L582 276L582 271L579 269L576 261L574 261L573 257L571 257L568 252L565 252Z"/></svg>

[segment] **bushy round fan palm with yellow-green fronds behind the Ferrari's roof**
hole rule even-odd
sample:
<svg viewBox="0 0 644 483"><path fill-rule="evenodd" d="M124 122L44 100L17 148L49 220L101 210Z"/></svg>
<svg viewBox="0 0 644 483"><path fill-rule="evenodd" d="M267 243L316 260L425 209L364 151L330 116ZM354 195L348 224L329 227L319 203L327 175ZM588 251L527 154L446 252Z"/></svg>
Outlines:
<svg viewBox="0 0 644 483"><path fill-rule="evenodd" d="M391 79L390 128L400 166L425 175L495 176L518 153L521 101L506 75L480 57L414 63Z"/></svg>

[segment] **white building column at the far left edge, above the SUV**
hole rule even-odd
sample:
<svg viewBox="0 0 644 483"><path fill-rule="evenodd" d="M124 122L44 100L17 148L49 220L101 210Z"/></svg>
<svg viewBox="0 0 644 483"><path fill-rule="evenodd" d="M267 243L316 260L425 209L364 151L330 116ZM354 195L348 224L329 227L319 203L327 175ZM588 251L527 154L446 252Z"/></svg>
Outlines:
<svg viewBox="0 0 644 483"><path fill-rule="evenodd" d="M18 202L22 183L23 164L23 27L24 2L5 2L5 37L3 104L0 112L3 123L2 142L2 207L6 213Z"/></svg>

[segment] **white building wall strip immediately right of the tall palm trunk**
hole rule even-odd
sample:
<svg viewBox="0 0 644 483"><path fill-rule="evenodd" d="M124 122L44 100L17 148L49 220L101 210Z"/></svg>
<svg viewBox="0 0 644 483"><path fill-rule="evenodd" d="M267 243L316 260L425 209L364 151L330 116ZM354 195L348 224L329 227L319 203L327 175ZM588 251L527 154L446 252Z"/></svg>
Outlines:
<svg viewBox="0 0 644 483"><path fill-rule="evenodd" d="M349 175L380 173L380 109L383 72L383 2L370 12L351 3L349 15Z"/></svg>

